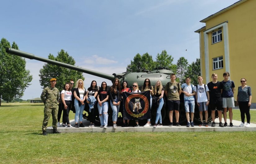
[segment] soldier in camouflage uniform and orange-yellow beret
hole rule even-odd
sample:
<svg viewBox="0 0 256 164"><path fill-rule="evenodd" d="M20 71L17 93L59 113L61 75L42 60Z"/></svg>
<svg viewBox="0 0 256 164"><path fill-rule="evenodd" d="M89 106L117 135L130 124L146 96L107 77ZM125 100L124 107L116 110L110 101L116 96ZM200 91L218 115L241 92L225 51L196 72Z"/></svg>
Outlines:
<svg viewBox="0 0 256 164"><path fill-rule="evenodd" d="M51 86L46 87L43 89L43 92L41 94L41 99L44 103L44 119L43 119L43 135L47 135L46 128L48 125L48 121L50 119L50 116L52 114L52 127L53 127L53 133L61 133L57 131L57 100L60 97L60 92L57 88L55 88L56 85L56 79L52 78L50 80Z"/></svg>

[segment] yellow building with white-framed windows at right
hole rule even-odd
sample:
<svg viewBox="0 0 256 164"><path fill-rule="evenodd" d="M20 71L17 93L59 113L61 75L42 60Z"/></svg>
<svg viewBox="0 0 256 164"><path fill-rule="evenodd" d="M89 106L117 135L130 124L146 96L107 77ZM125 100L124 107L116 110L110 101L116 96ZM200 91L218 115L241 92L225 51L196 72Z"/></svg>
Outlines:
<svg viewBox="0 0 256 164"><path fill-rule="evenodd" d="M222 81L227 71L236 86L236 99L240 79L245 78L252 88L252 107L256 108L256 0L240 0L200 22L205 26L195 32L200 37L204 84L212 81L212 73Z"/></svg>

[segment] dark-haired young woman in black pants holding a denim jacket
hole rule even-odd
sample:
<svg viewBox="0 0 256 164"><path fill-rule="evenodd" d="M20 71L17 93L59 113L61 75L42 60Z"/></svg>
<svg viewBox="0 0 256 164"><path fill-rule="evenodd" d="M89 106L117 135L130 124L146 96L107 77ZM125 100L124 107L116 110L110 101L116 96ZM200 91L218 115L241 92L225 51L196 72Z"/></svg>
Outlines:
<svg viewBox="0 0 256 164"><path fill-rule="evenodd" d="M94 96L97 99L97 94L98 94L98 87L97 87L97 82L95 80L92 80L91 86L87 89L86 93L86 102L88 103L87 105L89 106L89 101L88 98L91 96ZM90 107L89 107L90 108ZM95 126L95 110L96 110L96 102L93 105L93 108L91 109L91 112L88 112L88 117L90 120L90 125L89 127L94 127Z"/></svg>

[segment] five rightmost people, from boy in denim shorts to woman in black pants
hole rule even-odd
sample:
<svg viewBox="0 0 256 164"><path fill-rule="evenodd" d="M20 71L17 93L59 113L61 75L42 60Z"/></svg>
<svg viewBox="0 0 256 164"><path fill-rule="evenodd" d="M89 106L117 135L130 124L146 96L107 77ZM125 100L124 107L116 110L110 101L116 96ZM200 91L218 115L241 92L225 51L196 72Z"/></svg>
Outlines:
<svg viewBox="0 0 256 164"><path fill-rule="evenodd" d="M198 84L192 85L190 83L190 78L186 77L186 83L182 84L182 93L184 93L184 106L186 110L186 118L187 118L187 127L194 126L193 118L194 118L194 108L195 108L195 100L199 109L199 116L201 123L199 126L208 127L208 106L211 109L211 117L212 117L212 127L215 127L215 110L218 111L219 118L219 126L226 127L227 126L227 111L229 112L230 123L229 126L233 127L232 123L232 108L235 107L234 101L234 92L235 92L235 84L232 80L229 80L229 72L223 73L224 80L218 81L218 75L212 74L212 81L207 85L203 84L203 77L198 76ZM172 78L172 76L171 76ZM175 78L175 76L173 76ZM242 123L239 127L250 127L250 106L252 100L251 88L246 85L246 79L242 78L240 80L241 86L238 87L236 104L239 106L241 113L241 121ZM194 99L195 95L195 99ZM205 121L203 121L203 111ZM191 113L191 122L189 118L189 112ZM224 118L224 125L222 124L222 113ZM247 123L245 124L245 115L247 119ZM172 123L171 123L172 126Z"/></svg>

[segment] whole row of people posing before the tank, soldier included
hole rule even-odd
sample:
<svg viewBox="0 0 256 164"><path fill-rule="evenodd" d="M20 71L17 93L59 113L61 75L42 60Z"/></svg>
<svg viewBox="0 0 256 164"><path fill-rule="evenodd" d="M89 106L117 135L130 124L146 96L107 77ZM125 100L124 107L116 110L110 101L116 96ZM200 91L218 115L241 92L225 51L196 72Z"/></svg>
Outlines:
<svg viewBox="0 0 256 164"><path fill-rule="evenodd" d="M198 77L198 84L191 84L190 77L186 77L186 83L180 85L176 82L176 75L171 74L170 82L165 85L165 88L162 86L160 80L156 81L155 87L153 87L150 83L150 79L145 79L143 83L143 87L141 89L142 92L149 91L150 92L150 108L152 107L152 99L153 96L156 97L157 110L156 110L156 118L153 127L162 126L162 117L161 117L161 109L164 105L164 94L167 97L167 105L169 111L169 126L173 126L173 111L175 113L175 125L180 127L179 124L179 106L180 106L180 94L184 93L184 106L186 110L186 118L187 118L187 127L193 127L194 122L194 109L195 109L195 100L199 107L199 114L201 123L199 126L207 125L208 120L208 106L211 109L211 116L213 118L212 127L215 127L215 110L218 111L219 117L219 126L225 127L227 126L227 111L229 111L229 126L232 127L232 108L234 105L234 92L235 92L235 84L233 81L229 80L230 74L228 72L223 73L224 80L219 82L217 80L217 74L212 74L212 81L207 85L203 84L203 77ZM122 93L131 92L131 93L140 93L141 91L138 88L137 82L134 82L132 85L132 90L128 88L127 81L123 81L122 85L118 78L115 78L110 89L107 89L107 83L103 81L101 86L97 86L97 82L95 80L92 81L91 86L86 90L84 88L84 82L82 79L77 80L75 87L74 80L70 80L69 83L65 83L63 90L59 92L59 90L55 87L56 78L52 78L50 80L50 86L43 89L41 94L41 99L45 104L44 108L44 119L43 119L43 135L47 135L46 128L48 124L48 120L50 115L52 114L52 127L53 133L60 133L57 131L58 127L69 127L72 128L69 122L69 112L72 110L75 113L75 126L76 128L84 127L83 125L83 110L85 105L88 105L89 112L88 118L90 121L89 127L95 127L95 118L96 118L96 109L99 112L99 119L101 126L103 128L107 128L108 123L108 101L110 101L110 106L113 110L112 120L113 120L113 128L117 127L117 118L119 113L120 105L123 103ZM194 98L195 96L195 98ZM60 98L59 110L57 110L57 100ZM240 127L249 127L250 126L250 105L251 105L251 88L246 85L246 79L241 79L241 86L238 87L237 94L237 105L240 108L241 112L241 121ZM61 113L63 111L62 116L62 124L60 124ZM203 121L203 111L205 116L205 121ZM222 124L222 111L224 116L224 125ZM191 113L191 122L190 116ZM245 114L247 118L247 124L245 125ZM136 125L135 127L139 127L138 119L135 119ZM158 123L159 122L159 123ZM79 124L78 124L79 123ZM147 119L147 123L144 127L150 127L150 119ZM129 120L123 120L122 127L129 126Z"/></svg>

